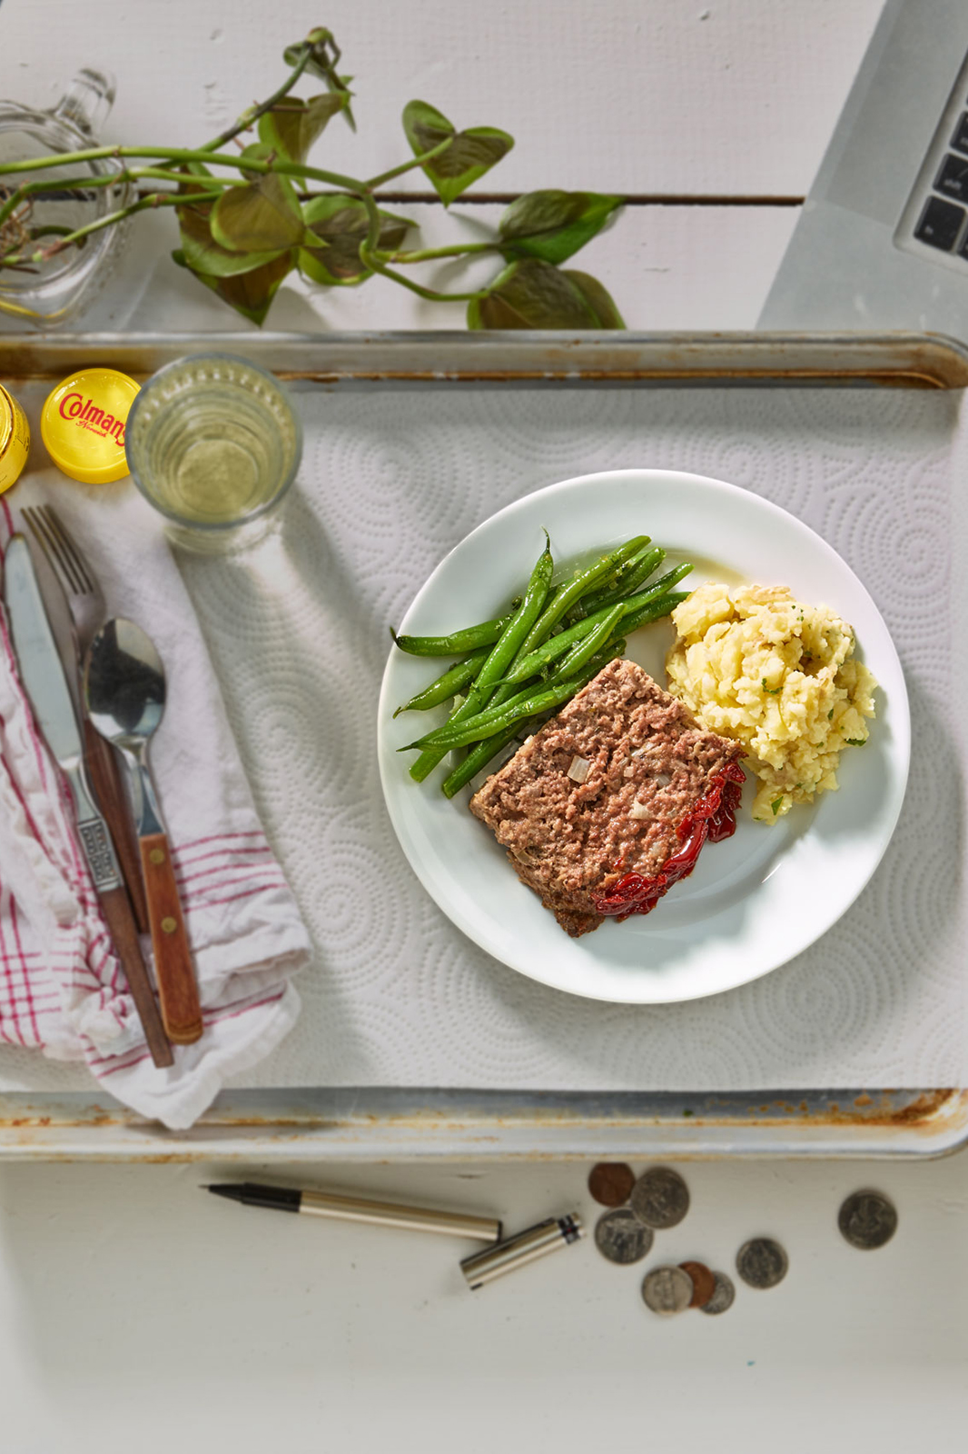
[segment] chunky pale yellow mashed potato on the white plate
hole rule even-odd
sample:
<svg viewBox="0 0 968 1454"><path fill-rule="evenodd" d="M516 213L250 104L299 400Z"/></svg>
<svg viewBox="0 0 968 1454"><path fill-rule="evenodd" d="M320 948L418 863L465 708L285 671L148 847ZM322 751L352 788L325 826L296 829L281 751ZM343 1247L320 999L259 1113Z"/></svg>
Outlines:
<svg viewBox="0 0 968 1454"><path fill-rule="evenodd" d="M876 682L853 659L853 630L785 586L699 586L671 614L669 691L709 731L741 742L762 778L753 817L837 787L847 744L868 740Z"/></svg>

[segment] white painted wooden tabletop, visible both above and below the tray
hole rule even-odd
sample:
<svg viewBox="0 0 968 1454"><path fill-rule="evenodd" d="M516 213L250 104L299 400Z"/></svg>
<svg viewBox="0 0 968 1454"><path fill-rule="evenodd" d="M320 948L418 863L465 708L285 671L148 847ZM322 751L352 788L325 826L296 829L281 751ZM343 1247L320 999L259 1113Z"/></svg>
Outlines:
<svg viewBox="0 0 968 1454"><path fill-rule="evenodd" d="M365 176L401 160L413 96L459 125L504 126L517 144L488 188L638 199L578 262L631 327L750 327L878 12L879 0L328 0L324 13L307 0L3 0L0 95L47 106L78 65L106 65L118 76L108 137L187 144L265 95L282 47L324 22L358 93L359 134L336 122L321 148L334 167ZM401 209L436 243L500 204L452 218L424 202ZM234 326L172 266L172 246L166 220L138 227L83 326ZM462 313L381 279L312 298L286 289L270 321L461 327ZM198 1189L237 1169L4 1165L3 1448L964 1448L968 1157L683 1172L693 1208L644 1265L610 1266L584 1242L469 1294L456 1261L471 1245L250 1211ZM513 1230L570 1210L593 1221L586 1175L577 1163L347 1166L326 1184L494 1211ZM321 1184L295 1166L272 1179ZM862 1253L836 1211L868 1185L894 1198L900 1230ZM791 1258L779 1288L740 1287L721 1319L642 1306L642 1266L731 1269L762 1233Z"/></svg>

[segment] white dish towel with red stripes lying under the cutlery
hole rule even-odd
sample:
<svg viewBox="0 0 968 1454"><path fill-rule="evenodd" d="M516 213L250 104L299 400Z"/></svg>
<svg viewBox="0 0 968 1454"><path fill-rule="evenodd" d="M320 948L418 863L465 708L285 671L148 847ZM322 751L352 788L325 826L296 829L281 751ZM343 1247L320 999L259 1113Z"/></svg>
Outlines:
<svg viewBox="0 0 968 1454"><path fill-rule="evenodd" d="M45 502L97 573L109 614L142 625L166 664L167 707L151 760L205 1032L174 1047L170 1069L151 1063L77 846L67 787L33 723L0 612L0 1044L84 1060L116 1099L183 1128L227 1076L262 1060L292 1028L292 976L308 963L310 939L259 822L157 516L128 481L84 487L48 471L0 496L0 547L20 528L20 507ZM142 948L150 963L147 939Z"/></svg>

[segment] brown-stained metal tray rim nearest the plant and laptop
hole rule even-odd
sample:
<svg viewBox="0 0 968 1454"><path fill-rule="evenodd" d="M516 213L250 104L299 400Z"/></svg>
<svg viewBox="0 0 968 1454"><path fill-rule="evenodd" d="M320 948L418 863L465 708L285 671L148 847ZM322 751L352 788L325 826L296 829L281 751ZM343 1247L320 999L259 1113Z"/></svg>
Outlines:
<svg viewBox="0 0 968 1454"><path fill-rule="evenodd" d="M144 377L211 349L317 384L968 385L968 350L921 333L0 333L0 378Z"/></svg>

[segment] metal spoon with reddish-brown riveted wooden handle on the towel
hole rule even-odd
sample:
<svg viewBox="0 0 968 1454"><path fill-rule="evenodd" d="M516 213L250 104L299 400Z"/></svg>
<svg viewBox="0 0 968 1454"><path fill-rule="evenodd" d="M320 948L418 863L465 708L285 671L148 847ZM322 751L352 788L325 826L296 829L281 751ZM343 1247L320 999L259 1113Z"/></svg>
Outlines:
<svg viewBox="0 0 968 1454"><path fill-rule="evenodd" d="M164 666L151 638L134 621L115 616L94 635L84 663L84 702L93 726L121 750L128 766L161 1019L169 1040L190 1045L202 1034L202 1009L148 768L148 742L164 715Z"/></svg>

